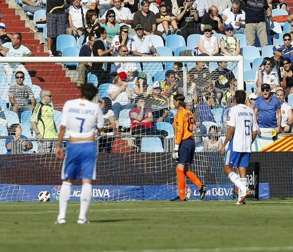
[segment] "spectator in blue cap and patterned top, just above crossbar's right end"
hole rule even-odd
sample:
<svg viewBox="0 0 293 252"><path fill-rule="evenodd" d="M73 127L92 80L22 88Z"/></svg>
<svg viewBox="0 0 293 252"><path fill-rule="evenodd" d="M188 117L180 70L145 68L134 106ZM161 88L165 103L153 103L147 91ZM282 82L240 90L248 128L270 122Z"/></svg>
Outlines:
<svg viewBox="0 0 293 252"><path fill-rule="evenodd" d="M240 55L240 40L233 36L233 26L228 24L225 26L226 36L220 39L221 53L225 56Z"/></svg>

